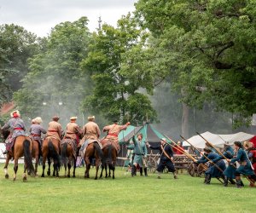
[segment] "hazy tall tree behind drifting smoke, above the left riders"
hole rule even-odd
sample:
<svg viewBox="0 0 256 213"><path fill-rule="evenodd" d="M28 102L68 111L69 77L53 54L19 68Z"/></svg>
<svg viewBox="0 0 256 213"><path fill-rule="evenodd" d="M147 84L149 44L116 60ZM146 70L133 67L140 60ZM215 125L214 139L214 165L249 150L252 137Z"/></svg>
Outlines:
<svg viewBox="0 0 256 213"><path fill-rule="evenodd" d="M80 62L87 56L90 32L87 18L55 26L41 53L29 60L30 72L15 101L26 116L49 119L61 114L62 122L79 114L80 101L90 86ZM44 106L43 106L44 103Z"/></svg>

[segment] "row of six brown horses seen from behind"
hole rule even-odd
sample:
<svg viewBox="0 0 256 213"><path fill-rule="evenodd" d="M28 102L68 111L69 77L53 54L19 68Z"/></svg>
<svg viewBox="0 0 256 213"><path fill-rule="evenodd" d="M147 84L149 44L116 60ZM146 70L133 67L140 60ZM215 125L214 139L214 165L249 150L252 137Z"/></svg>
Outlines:
<svg viewBox="0 0 256 213"><path fill-rule="evenodd" d="M9 136L9 130L1 130L0 132L3 135L3 139ZM45 163L46 159L48 160L48 171L47 175L50 176L50 164L53 162L53 176L59 177L59 171L61 169L61 165L63 164L65 168L65 176L70 177L70 170L73 164L73 177L75 177L76 170L76 161L77 154L79 153L77 150L73 150L74 147L71 145L72 139L65 139L65 141L60 141L54 136L44 137L44 141L42 143L42 148L40 149L39 141L32 140L30 136L20 135L16 137L15 144L12 148L12 152L9 152L6 157L6 162L4 165L4 173L5 178L9 178L8 174L8 165L9 160L14 158L15 165L15 175L14 181L16 180L16 174L18 170L18 160L19 158L24 156L24 173L23 173L23 181L26 181L26 171L27 174L31 176L38 176L38 162L39 158L42 156L43 158L43 172L42 177L44 177ZM76 148L76 147L75 147ZM114 179L114 170L117 159L117 152L113 148L111 142L108 143L108 146L101 149L97 141L92 141L89 143L86 148L86 152L84 156L84 162L86 164L86 169L84 172L84 178L90 178L89 171L90 165L93 158L96 159L96 176L95 180L98 179L98 170L100 165L102 164L102 172L105 169L106 176L111 177L111 170L113 171L112 177ZM32 164L32 158L35 159L35 167ZM109 169L109 171L108 171ZM102 178L102 172L100 178Z"/></svg>

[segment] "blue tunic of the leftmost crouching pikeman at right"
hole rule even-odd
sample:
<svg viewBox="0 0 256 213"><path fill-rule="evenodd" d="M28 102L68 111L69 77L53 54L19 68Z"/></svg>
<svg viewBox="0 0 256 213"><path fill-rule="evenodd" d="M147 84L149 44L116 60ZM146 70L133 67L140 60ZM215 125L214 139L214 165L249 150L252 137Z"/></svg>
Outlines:
<svg viewBox="0 0 256 213"><path fill-rule="evenodd" d="M218 154L217 153L209 153L207 155L207 158L209 158L210 160L214 160L215 158L218 158ZM199 164L205 164L207 163L208 159L205 156L202 156L197 163ZM210 165L209 168L206 170L206 175L209 174L212 177L221 177L223 176L223 171L226 169L226 165L224 163L224 160L220 159L218 160L218 162L216 162L215 164L218 165L218 167L222 170L219 170L214 164Z"/></svg>

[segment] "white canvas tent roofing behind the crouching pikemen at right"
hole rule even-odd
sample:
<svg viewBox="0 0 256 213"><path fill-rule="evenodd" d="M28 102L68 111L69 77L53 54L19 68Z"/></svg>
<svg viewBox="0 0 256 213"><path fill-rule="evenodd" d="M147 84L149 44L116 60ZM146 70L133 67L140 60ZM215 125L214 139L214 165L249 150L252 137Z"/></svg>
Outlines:
<svg viewBox="0 0 256 213"><path fill-rule="evenodd" d="M244 132L238 132L236 134L230 134L230 135L218 135L208 131L205 133L202 133L201 135L216 147L222 147L224 145L224 141L228 141L230 144L233 144L235 141L250 140L254 136ZM193 137L190 137L188 141L197 148L204 148L206 144L206 141L203 140L200 135L195 135ZM183 141L183 147L189 147L189 146L190 145L187 141Z"/></svg>

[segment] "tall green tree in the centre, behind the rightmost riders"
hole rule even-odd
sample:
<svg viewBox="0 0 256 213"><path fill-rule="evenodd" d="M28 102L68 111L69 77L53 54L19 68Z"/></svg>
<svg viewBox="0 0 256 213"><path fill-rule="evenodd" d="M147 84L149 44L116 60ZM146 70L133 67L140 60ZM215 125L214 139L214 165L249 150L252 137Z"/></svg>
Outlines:
<svg viewBox="0 0 256 213"><path fill-rule="evenodd" d="M108 120L119 118L134 124L156 118L148 95L138 91L148 87L147 76L128 68L132 62L127 55L138 47L142 49L145 33L128 14L118 21L116 28L103 25L93 34L90 53L83 65L91 75L94 89L84 100L84 107L102 112Z"/></svg>

